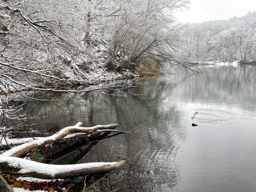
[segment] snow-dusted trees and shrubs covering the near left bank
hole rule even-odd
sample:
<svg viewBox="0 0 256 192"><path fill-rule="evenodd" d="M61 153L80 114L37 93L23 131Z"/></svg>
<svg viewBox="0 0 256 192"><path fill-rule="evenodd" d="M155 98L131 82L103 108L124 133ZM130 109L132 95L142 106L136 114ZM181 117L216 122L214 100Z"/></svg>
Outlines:
<svg viewBox="0 0 256 192"><path fill-rule="evenodd" d="M0 2L0 118L27 125L14 96L76 87L159 69L183 26L188 0L5 0ZM96 89L102 89L96 88ZM91 91L91 90L85 90ZM35 99L35 98L32 98ZM46 98L46 100L49 100Z"/></svg>

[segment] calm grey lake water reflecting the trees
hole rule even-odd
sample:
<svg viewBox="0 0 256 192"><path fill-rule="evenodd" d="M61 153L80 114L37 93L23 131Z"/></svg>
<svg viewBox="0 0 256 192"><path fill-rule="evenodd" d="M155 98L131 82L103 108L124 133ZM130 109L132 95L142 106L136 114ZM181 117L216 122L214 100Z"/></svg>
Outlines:
<svg viewBox="0 0 256 192"><path fill-rule="evenodd" d="M58 103L69 113L43 102L32 103L33 111L47 116L38 123L41 130L81 121L84 126L119 123L119 130L130 132L59 160L129 159L132 165L100 180L98 191L256 191L256 66L200 69L206 73L191 75L180 67L169 78L125 90L149 97L77 94L80 101L66 96L69 102Z"/></svg>

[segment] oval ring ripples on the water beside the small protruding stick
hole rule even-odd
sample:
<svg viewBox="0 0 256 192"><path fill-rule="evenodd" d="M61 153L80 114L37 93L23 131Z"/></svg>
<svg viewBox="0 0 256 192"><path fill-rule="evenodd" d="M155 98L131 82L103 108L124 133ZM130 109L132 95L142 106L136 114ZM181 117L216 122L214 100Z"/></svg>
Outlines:
<svg viewBox="0 0 256 192"><path fill-rule="evenodd" d="M233 114L228 111L217 109L196 109L196 111L199 112L196 116L197 122L214 123L233 119Z"/></svg>

